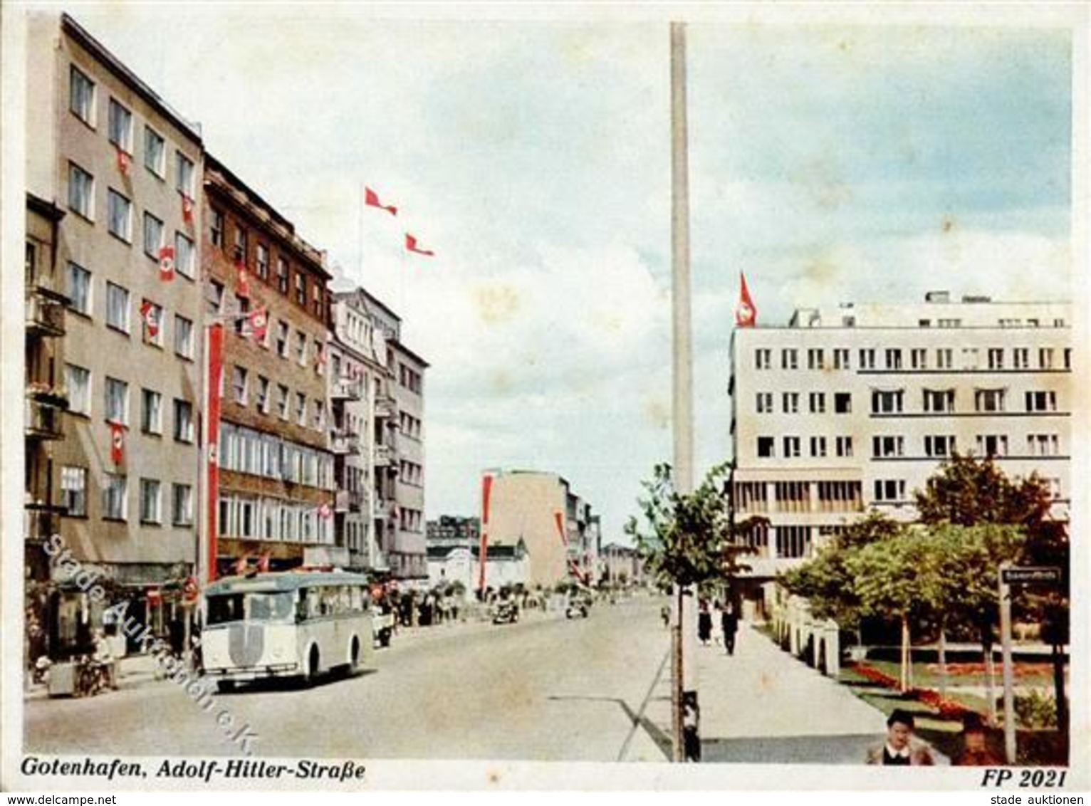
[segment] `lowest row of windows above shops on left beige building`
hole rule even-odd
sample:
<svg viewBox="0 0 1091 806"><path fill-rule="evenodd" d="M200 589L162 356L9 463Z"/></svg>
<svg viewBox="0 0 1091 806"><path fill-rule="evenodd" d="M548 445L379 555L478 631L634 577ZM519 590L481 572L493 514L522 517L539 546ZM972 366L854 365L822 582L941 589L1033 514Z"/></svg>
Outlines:
<svg viewBox="0 0 1091 806"><path fill-rule="evenodd" d="M158 526L164 522L163 496L167 484L159 479L140 479L140 522ZM70 517L85 518L87 507L87 468L61 468L61 503ZM105 473L103 478L101 517L110 520L129 519L129 477ZM193 525L193 486L170 484L170 522Z"/></svg>

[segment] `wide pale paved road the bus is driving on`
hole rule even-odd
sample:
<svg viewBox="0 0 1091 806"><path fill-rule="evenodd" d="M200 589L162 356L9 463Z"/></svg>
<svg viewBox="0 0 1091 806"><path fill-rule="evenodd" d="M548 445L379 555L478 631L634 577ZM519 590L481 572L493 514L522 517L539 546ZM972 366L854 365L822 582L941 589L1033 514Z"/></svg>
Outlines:
<svg viewBox="0 0 1091 806"><path fill-rule="evenodd" d="M254 755L432 759L663 760L639 715L667 674L658 603L587 619L439 626L376 652L375 671L309 689L217 695ZM169 682L26 703L25 751L237 755L213 713Z"/></svg>

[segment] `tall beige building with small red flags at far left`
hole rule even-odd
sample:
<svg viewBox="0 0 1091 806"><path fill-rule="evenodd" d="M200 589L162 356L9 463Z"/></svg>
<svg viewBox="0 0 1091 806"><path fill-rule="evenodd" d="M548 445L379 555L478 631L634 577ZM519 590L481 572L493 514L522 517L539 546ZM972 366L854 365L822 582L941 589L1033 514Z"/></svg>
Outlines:
<svg viewBox="0 0 1091 806"><path fill-rule="evenodd" d="M59 533L84 570L158 629L180 607L160 586L195 563L202 141L71 17L32 14L27 34L27 190L64 210L53 258L69 300L64 335L53 335L63 366L52 356L68 401L51 456ZM43 398L28 406L57 429ZM61 574L55 566L48 619L63 652L86 646L101 621Z"/></svg>

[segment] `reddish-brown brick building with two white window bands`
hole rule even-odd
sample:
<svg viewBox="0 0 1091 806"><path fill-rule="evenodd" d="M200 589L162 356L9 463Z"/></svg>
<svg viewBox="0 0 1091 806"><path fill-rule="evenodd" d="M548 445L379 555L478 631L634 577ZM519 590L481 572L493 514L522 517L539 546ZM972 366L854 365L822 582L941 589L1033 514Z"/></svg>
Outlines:
<svg viewBox="0 0 1091 806"><path fill-rule="evenodd" d="M205 318L225 329L218 423L217 556L273 569L334 544L324 254L206 155ZM264 327L264 332L262 328Z"/></svg>

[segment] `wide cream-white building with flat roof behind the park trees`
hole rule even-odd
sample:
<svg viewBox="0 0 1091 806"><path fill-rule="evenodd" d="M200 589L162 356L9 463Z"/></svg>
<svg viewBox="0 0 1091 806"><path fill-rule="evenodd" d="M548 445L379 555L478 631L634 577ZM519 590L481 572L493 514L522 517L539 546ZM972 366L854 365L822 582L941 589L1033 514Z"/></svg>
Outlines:
<svg viewBox="0 0 1091 806"><path fill-rule="evenodd" d="M732 493L752 584L812 556L868 508L915 517L913 491L952 452L1036 472L1067 518L1070 306L952 301L798 310L731 342ZM757 597L752 586L751 596Z"/></svg>

